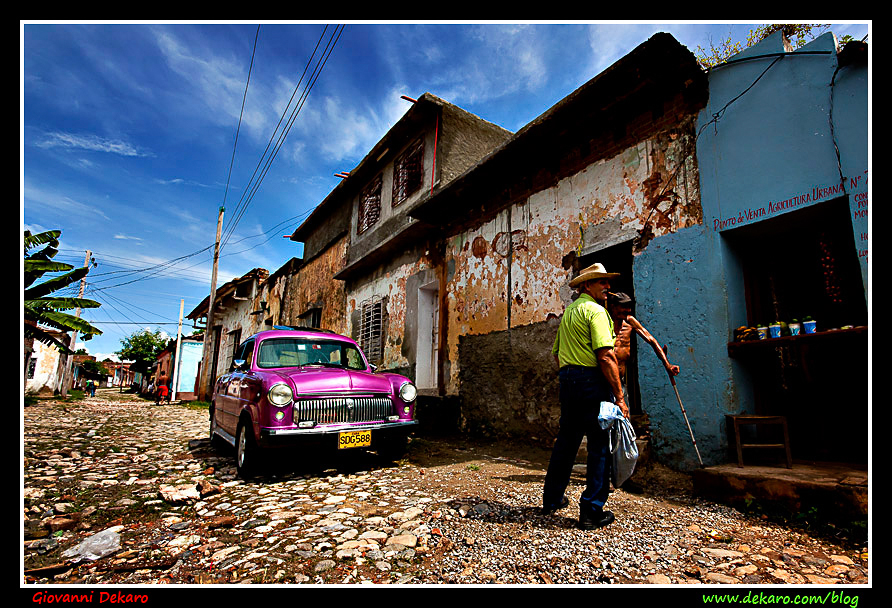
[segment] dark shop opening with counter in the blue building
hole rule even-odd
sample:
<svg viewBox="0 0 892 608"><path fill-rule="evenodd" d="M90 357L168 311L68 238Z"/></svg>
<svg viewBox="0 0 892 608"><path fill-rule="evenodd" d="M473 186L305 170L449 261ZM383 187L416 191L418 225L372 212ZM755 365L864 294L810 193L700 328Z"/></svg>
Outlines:
<svg viewBox="0 0 892 608"><path fill-rule="evenodd" d="M787 418L793 459L867 462L867 302L846 198L723 234L742 270L746 325L813 317L814 335L742 344L756 414ZM859 329L860 328L860 329Z"/></svg>

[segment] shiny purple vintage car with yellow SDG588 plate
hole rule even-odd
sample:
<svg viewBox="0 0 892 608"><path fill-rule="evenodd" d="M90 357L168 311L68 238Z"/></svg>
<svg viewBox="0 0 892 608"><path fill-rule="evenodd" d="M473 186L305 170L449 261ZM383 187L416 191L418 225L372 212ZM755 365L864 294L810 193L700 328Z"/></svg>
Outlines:
<svg viewBox="0 0 892 608"><path fill-rule="evenodd" d="M316 441L398 458L415 420L417 391L375 373L350 338L324 330L261 331L236 351L210 406L210 436L235 446L238 473L258 472L261 451Z"/></svg>

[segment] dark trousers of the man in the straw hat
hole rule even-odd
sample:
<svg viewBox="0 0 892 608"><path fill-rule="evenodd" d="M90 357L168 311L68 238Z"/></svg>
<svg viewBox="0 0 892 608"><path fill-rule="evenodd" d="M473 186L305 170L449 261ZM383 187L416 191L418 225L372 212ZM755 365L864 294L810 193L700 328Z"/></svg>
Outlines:
<svg viewBox="0 0 892 608"><path fill-rule="evenodd" d="M543 506L548 508L560 502L570 483L582 438L586 437L588 461L579 508L597 511L607 502L611 466L608 434L598 425L598 411L602 401L613 401L613 392L597 367L565 366L559 378L560 430L545 475Z"/></svg>

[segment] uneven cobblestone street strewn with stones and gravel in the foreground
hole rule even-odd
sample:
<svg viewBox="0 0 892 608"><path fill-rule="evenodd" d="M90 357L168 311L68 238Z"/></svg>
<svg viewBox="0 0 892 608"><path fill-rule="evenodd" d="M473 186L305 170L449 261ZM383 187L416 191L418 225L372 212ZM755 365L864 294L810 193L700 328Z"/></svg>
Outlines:
<svg viewBox="0 0 892 608"><path fill-rule="evenodd" d="M24 408L25 584L867 585L836 543L698 500L616 490L616 522L539 512L548 453L416 437L409 456L295 454L250 482L207 410L107 389ZM855 589L857 591L857 589Z"/></svg>

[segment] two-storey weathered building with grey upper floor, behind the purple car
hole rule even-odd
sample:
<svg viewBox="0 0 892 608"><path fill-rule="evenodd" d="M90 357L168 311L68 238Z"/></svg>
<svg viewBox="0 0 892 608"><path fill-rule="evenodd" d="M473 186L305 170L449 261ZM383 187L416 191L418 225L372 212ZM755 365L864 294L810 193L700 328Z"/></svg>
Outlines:
<svg viewBox="0 0 892 608"><path fill-rule="evenodd" d="M292 235L304 243L294 282L306 293L292 311L316 308L323 327L351 335L375 365L436 393L439 300L425 294L441 289L439 235L411 213L511 133L429 93L410 101Z"/></svg>

